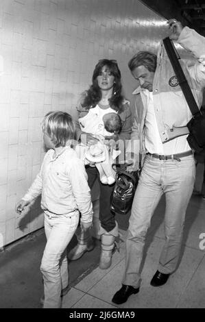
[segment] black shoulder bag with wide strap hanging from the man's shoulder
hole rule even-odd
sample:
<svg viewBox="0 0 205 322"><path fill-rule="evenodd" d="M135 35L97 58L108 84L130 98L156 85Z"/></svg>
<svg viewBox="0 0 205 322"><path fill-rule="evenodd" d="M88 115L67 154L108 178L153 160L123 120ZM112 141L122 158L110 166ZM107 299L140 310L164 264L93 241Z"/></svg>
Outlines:
<svg viewBox="0 0 205 322"><path fill-rule="evenodd" d="M189 87L184 72L182 71L180 62L178 61L178 59L180 59L180 56L178 55L173 42L169 39L169 37L167 37L163 39L163 43L173 70L178 77L178 82L189 105L191 114L193 115L191 121L189 121L189 123L187 123L186 125L189 129L189 136L187 137L187 141L191 149L194 149L196 152L202 152L205 150L205 110L199 110L197 106L195 98L193 97L193 94L191 92L191 88Z"/></svg>

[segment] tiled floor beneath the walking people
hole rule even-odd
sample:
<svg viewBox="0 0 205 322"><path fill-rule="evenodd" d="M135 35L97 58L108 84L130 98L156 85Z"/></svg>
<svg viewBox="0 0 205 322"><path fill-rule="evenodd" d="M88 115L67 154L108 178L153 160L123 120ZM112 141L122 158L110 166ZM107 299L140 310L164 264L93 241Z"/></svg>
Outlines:
<svg viewBox="0 0 205 322"><path fill-rule="evenodd" d="M120 251L113 255L112 266L107 270L98 268L100 243L95 240L93 251L69 263L71 288L63 298L62 308L205 308L205 200L200 196L191 197L186 213L178 270L164 286L154 288L149 284L165 240L164 210L165 200L162 199L147 235L140 293L119 306L111 301L121 287L125 257L123 240L129 219L129 214L117 215L122 240ZM75 243L76 238L73 238L69 249ZM39 267L44 247L45 234L39 230L0 253L0 308L40 308L43 284Z"/></svg>

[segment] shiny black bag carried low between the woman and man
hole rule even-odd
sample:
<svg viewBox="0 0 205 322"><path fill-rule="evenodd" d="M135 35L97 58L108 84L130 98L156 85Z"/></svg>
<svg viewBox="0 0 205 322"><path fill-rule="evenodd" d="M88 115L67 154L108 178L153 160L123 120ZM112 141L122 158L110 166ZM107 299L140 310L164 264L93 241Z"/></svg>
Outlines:
<svg viewBox="0 0 205 322"><path fill-rule="evenodd" d="M117 214L127 214L132 208L140 171L128 172L125 167L116 171L116 182L110 198L110 210L117 212Z"/></svg>

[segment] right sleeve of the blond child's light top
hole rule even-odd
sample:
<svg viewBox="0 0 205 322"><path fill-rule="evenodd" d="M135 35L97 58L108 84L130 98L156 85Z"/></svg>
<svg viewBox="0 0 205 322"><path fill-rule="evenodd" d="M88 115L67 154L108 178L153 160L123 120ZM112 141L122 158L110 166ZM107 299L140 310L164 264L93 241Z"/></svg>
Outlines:
<svg viewBox="0 0 205 322"><path fill-rule="evenodd" d="M93 220L91 190L88 187L84 164L80 159L73 160L72 166L69 166L68 174L77 208L81 212L81 221L90 223Z"/></svg>

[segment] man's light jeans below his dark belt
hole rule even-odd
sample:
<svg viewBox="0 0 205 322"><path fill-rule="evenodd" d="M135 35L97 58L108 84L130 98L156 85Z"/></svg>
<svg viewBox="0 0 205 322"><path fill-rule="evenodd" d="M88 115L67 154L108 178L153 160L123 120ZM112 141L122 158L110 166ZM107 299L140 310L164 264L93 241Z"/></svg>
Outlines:
<svg viewBox="0 0 205 322"><path fill-rule="evenodd" d="M169 274L176 270L186 208L195 181L193 156L177 160L158 160L147 155L132 203L132 213L125 242L125 274L123 284L139 287L145 236L160 197L165 194L165 245L158 271Z"/></svg>

